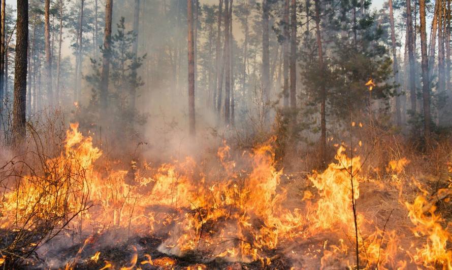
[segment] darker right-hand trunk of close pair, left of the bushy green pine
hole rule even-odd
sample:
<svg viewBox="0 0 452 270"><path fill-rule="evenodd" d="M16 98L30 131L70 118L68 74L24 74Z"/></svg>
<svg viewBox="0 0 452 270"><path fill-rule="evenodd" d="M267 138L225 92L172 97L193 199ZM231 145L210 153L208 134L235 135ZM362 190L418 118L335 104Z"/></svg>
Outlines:
<svg viewBox="0 0 452 270"><path fill-rule="evenodd" d="M297 106L297 1L292 0L292 18L290 19L290 107Z"/></svg>

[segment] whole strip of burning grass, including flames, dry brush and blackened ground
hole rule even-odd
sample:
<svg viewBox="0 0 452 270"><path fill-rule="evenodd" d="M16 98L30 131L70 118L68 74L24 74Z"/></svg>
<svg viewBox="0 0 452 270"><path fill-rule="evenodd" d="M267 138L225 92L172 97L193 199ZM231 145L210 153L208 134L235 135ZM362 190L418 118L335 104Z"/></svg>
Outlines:
<svg viewBox="0 0 452 270"><path fill-rule="evenodd" d="M224 142L218 166L187 157L126 171L73 124L61 153L34 156L40 167L3 168L0 265L356 268L358 240L360 268L452 268L435 208L449 202L450 185L432 201L404 173L406 158L391 161L383 181L343 146L326 170L286 175L274 141L234 158Z"/></svg>

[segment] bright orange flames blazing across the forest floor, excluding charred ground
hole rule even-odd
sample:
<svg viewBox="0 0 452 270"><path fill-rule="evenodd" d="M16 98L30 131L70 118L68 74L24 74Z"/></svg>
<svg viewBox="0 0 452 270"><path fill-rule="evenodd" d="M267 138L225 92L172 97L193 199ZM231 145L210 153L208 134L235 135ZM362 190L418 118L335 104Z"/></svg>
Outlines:
<svg viewBox="0 0 452 270"><path fill-rule="evenodd" d="M423 195L417 196L412 204L405 202L406 215L412 222L409 229L416 237L409 244L402 243L397 228L387 226L388 220L379 227L361 209L353 214L360 184L366 179L360 172L361 158L347 157L343 146L337 150L335 163L324 172L308 176L313 187L310 196L300 197L295 206L290 206L286 205L287 192L281 185L283 171L274 167L272 143L276 138L243 153L241 162L247 163L249 169L239 168L231 159L230 147L224 143L217 151L220 173L203 172L195 160L187 158L158 168L144 167L144 171L136 172L135 182L128 183L126 171L105 174L98 169L103 166L97 163L103 153L94 146L91 137L78 131L77 124L72 124L66 135L64 152L46 164L52 168L49 172L54 173L47 176L49 179L63 177L61 182L67 184L49 190L48 186L43 188L40 176L24 176L14 189L5 193L0 219L2 229L15 232L25 228L31 232L39 227L38 223L23 226L28 221L21 217L32 212L36 214L31 218L36 220L60 216L64 211L77 213L67 220L68 227L77 227L82 233L97 233L86 238L66 268L77 268L83 263L80 260L83 250L96 246L99 241L96 239L104 234L100 227L109 224L113 225L110 230L128 228L135 233L164 235L158 251L176 256L151 258L149 254L139 255L137 247L132 246L131 258L121 269L139 265L173 267L177 258L193 252L202 254L201 260L206 262L223 258L257 263L260 267L271 266L281 256L310 257L324 268L350 266L356 252L351 245L355 221L362 265L381 269L408 269L411 267L408 265L414 264L428 268L442 265L444 269L452 266L447 247L451 235L441 224L441 215L435 214L434 205L424 210L429 202ZM390 166L400 172L400 166L407 163L403 159L392 161ZM75 173L82 169L83 174ZM77 185L70 184L70 178ZM66 200L55 201L60 199L56 193L68 194ZM102 269L121 266L114 258L104 260L103 253L96 251L87 258L99 266L98 260L105 261ZM206 266L200 264L195 268L200 267Z"/></svg>

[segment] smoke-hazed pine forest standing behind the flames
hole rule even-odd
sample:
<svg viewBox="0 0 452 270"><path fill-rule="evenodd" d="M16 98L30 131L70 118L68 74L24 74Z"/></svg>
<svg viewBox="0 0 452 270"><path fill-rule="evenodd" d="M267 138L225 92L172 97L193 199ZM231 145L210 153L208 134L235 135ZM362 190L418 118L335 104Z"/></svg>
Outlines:
<svg viewBox="0 0 452 270"><path fill-rule="evenodd" d="M449 6L29 0L15 14L3 1L4 136L57 108L132 140L168 119L192 135L284 132L325 166L329 138L360 115L428 147L450 126Z"/></svg>

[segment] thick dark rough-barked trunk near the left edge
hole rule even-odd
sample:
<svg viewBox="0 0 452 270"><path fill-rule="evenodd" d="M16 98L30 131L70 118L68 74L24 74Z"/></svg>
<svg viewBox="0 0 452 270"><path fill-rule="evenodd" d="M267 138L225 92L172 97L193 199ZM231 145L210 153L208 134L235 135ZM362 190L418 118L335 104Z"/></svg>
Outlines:
<svg viewBox="0 0 452 270"><path fill-rule="evenodd" d="M17 0L16 29L13 136L15 143L21 144L25 139L28 53L28 0Z"/></svg>

